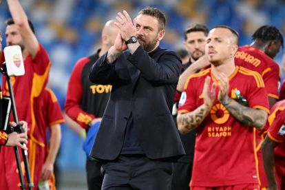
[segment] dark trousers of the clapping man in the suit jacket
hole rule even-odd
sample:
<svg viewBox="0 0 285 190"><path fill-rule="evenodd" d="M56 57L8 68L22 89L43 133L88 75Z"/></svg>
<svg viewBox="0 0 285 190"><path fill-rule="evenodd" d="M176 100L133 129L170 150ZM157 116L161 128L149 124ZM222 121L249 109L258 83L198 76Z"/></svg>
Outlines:
<svg viewBox="0 0 285 190"><path fill-rule="evenodd" d="M102 165L103 190L170 190L173 163L146 156L123 156Z"/></svg>

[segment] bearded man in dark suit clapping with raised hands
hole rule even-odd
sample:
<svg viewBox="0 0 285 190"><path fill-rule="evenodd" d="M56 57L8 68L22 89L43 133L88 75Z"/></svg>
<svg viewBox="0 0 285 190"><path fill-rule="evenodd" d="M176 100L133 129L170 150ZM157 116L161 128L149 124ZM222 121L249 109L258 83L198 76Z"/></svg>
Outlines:
<svg viewBox="0 0 285 190"><path fill-rule="evenodd" d="M134 24L126 11L116 20L114 45L89 72L93 83L112 85L90 155L104 161L102 189L170 189L173 159L184 154L171 116L182 63L159 47L165 15L157 8Z"/></svg>

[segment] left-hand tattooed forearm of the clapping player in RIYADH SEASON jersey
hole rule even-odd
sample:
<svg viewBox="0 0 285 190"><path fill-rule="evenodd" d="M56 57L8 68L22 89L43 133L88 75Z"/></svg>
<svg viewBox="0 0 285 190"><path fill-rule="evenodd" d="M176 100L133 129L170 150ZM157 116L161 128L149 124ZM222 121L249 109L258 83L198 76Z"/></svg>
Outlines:
<svg viewBox="0 0 285 190"><path fill-rule="evenodd" d="M201 105L193 112L179 114L177 121L180 133L187 134L189 131L198 127L202 123L204 118L209 114L210 109L211 108L205 105Z"/></svg>

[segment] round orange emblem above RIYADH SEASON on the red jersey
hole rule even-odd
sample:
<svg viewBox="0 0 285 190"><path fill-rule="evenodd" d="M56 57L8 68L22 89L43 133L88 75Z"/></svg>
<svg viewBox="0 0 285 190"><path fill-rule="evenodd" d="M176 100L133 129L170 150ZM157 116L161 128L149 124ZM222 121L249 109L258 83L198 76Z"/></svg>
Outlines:
<svg viewBox="0 0 285 190"><path fill-rule="evenodd" d="M217 124L222 124L229 119L229 112L228 110L226 110L226 107L224 107L220 103L217 103L212 107L210 111L210 116L213 122Z"/></svg>

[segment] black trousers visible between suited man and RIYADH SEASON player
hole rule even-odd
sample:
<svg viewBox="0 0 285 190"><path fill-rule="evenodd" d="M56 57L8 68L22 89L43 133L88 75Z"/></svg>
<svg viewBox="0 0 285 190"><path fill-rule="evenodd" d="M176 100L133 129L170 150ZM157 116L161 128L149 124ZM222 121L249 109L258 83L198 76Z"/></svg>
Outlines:
<svg viewBox="0 0 285 190"><path fill-rule="evenodd" d="M192 176L192 163L176 162L173 165L172 190L189 190Z"/></svg>

